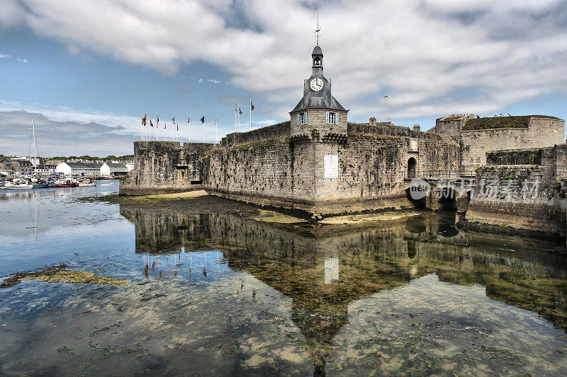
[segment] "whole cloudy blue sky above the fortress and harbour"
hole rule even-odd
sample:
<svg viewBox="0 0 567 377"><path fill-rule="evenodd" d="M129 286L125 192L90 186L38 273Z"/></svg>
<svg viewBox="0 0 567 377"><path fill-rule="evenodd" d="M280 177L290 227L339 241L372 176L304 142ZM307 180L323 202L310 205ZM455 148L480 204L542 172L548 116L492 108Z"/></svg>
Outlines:
<svg viewBox="0 0 567 377"><path fill-rule="evenodd" d="M448 113L567 117L566 1L5 0L0 153L132 153L140 117L181 140L288 120L320 13L325 76L349 120L422 129ZM385 96L388 96L385 98ZM163 132L163 131L162 131ZM170 134L168 133L168 136Z"/></svg>

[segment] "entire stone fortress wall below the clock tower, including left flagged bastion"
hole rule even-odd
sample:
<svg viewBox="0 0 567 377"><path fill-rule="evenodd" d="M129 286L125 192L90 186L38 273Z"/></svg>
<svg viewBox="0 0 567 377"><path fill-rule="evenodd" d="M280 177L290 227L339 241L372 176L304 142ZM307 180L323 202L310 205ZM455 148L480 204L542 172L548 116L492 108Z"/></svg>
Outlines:
<svg viewBox="0 0 567 377"><path fill-rule="evenodd" d="M254 137L229 134L220 144L137 141L136 168L120 193L204 188L254 204L332 214L411 207L404 187L410 158L417 171L458 168L454 141L408 127L370 124L347 124L347 139L340 143L320 135L293 141L286 132L289 122L254 130ZM331 154L338 156L337 178L324 178L325 155Z"/></svg>

